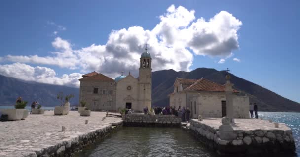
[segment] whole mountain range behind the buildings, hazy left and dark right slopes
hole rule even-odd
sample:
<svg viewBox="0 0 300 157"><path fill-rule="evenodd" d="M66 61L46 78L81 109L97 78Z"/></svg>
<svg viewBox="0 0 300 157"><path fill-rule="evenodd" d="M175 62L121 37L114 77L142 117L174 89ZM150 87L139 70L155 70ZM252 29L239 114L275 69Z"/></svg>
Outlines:
<svg viewBox="0 0 300 157"><path fill-rule="evenodd" d="M176 72L172 69L152 72L152 106L169 105L168 94L174 90L176 78L200 79L205 78L219 84L225 84L226 71L209 68L198 68L190 72ZM239 78L233 74L231 83L241 95L248 95L250 102L256 102L260 111L293 111L300 112L300 103L284 98L260 85ZM51 85L24 81L0 75L0 105L13 105L18 96L23 100L38 101L43 106L56 106L60 102L56 99L59 92L74 94L71 105L78 105L79 89L67 86Z"/></svg>

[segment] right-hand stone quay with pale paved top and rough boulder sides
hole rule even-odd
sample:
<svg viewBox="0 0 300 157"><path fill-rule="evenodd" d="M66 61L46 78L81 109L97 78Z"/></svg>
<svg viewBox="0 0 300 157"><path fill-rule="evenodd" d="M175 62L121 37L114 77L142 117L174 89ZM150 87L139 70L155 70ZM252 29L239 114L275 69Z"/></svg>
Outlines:
<svg viewBox="0 0 300 157"><path fill-rule="evenodd" d="M197 140L221 156L296 154L292 131L284 123L277 128L260 119L234 119L234 123L229 117L200 120L191 119L189 129Z"/></svg>

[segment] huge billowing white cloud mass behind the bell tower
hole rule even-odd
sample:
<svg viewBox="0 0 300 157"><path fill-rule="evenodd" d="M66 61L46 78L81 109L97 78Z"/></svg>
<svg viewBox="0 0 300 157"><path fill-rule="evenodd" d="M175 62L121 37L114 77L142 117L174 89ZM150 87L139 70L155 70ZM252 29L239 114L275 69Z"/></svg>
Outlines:
<svg viewBox="0 0 300 157"><path fill-rule="evenodd" d="M242 22L226 11L219 12L208 21L196 19L194 14L194 10L171 5L165 14L159 16L160 22L152 30L141 26L112 30L106 44L92 44L79 49L73 49L70 41L56 37L52 42L56 52L49 56L7 55L2 60L55 65L81 72L97 71L114 78L121 71L131 71L137 76L145 43L149 44L153 71L189 71L193 54L222 58L233 56L232 51L239 47L237 31ZM54 22L48 22L48 25L56 26L57 32L66 30ZM220 59L218 63L224 62L225 59Z"/></svg>

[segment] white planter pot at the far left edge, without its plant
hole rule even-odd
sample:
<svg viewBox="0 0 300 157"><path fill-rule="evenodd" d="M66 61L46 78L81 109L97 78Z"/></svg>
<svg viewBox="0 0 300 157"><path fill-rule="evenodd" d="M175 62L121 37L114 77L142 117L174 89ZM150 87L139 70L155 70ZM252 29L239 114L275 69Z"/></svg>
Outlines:
<svg viewBox="0 0 300 157"><path fill-rule="evenodd" d="M21 120L28 116L27 109L2 109L2 114L8 115L8 120Z"/></svg>

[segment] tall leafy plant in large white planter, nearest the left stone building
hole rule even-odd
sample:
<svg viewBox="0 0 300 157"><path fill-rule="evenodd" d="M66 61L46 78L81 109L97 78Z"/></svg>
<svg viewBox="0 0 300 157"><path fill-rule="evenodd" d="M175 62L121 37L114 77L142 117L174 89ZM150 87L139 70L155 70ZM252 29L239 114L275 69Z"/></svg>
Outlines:
<svg viewBox="0 0 300 157"><path fill-rule="evenodd" d="M65 95L63 92L57 94L57 99L61 102L60 106L55 106L54 115L67 115L70 110L69 100L73 98L73 94Z"/></svg>

